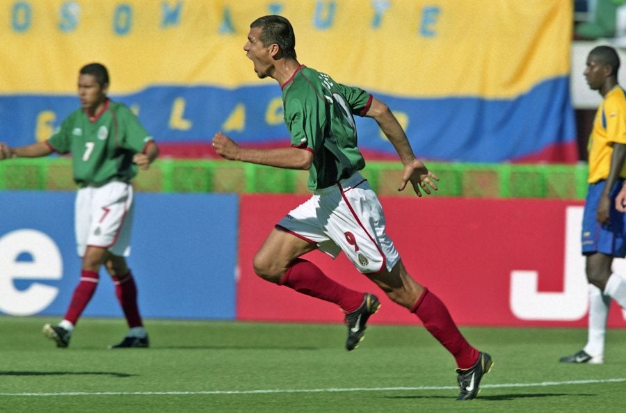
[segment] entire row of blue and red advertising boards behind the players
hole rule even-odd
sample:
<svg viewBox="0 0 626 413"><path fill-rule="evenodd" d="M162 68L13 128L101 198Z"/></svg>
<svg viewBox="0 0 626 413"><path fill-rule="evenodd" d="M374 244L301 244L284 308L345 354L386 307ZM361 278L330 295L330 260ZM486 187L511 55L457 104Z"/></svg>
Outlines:
<svg viewBox="0 0 626 413"><path fill-rule="evenodd" d="M307 197L137 193L129 266L143 315L341 322L336 306L265 282L252 268L275 222ZM75 191L0 191L0 314L63 316L80 276L74 198ZM586 325L583 201L383 196L380 202L404 264L459 325ZM332 260L312 252L307 259L349 288L374 288L344 254ZM613 269L626 274L626 260ZM104 270L101 283L104 292L85 315L120 316ZM374 323L419 323L384 294L379 298ZM608 325L626 327L626 311L612 307Z"/></svg>

